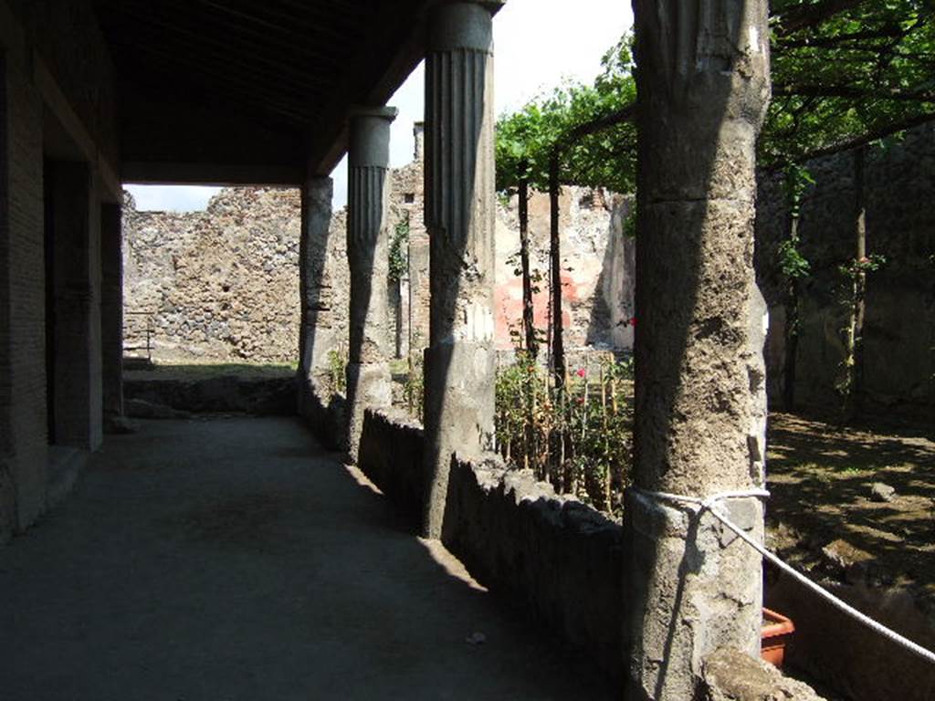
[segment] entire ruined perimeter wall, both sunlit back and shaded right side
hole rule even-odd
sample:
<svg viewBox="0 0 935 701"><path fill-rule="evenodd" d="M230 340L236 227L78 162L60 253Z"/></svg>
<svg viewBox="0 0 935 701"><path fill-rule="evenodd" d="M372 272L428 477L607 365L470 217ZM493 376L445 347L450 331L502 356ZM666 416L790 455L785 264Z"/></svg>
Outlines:
<svg viewBox="0 0 935 701"><path fill-rule="evenodd" d="M428 237L423 223L423 167L416 158L392 171L391 223L410 224L408 276L391 287L399 319L398 349L418 354L428 343ZM816 184L806 193L800 233L813 274L803 281L798 349L798 399L805 406L837 401L844 325L837 266L853 255L853 154L809 165ZM865 333L866 388L886 407L925 411L935 403L935 126L871 150L867 164L868 250L886 265L870 275ZM601 190L564 188L561 197L563 320L569 348L632 347L635 241L623 233L630 198ZM140 318L155 314L157 358L288 362L297 344L298 193L224 190L206 212L171 214L124 209L125 298L128 333L139 340ZM532 267L542 279L536 320L548 323L549 203L529 203ZM342 257L344 210L332 220L328 249ZM214 219L212 219L214 218ZM777 176L761 174L756 220L756 267L770 304L767 343L770 401L782 396L784 308L776 247L786 210ZM511 348L519 323L517 203L497 207L496 339ZM342 259L343 260L343 259ZM346 265L332 265L329 308L334 337L346 337ZM226 288L226 289L225 289ZM136 318L135 318L136 317ZM391 328L395 328L391 322ZM345 350L336 342L338 353ZM345 344L346 346L346 344Z"/></svg>

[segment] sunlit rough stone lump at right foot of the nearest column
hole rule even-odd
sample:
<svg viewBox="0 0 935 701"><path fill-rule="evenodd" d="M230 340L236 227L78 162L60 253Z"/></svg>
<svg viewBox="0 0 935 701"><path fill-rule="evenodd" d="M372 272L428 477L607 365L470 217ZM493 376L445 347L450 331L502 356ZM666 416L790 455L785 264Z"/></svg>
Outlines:
<svg viewBox="0 0 935 701"><path fill-rule="evenodd" d="M708 655L701 677L698 701L824 701L808 684L730 648Z"/></svg>

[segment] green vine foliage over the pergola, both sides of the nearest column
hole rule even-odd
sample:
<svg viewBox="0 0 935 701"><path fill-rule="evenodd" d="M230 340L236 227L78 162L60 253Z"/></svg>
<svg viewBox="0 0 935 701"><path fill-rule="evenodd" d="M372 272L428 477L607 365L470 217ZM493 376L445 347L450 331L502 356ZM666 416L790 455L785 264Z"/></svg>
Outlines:
<svg viewBox="0 0 935 701"><path fill-rule="evenodd" d="M772 0L773 99L759 142L764 165L799 163L935 119L935 0ZM626 34L590 84L566 82L497 122L497 189L518 179L548 186L561 149L561 181L632 192L636 101ZM610 125L576 134L583 125Z"/></svg>

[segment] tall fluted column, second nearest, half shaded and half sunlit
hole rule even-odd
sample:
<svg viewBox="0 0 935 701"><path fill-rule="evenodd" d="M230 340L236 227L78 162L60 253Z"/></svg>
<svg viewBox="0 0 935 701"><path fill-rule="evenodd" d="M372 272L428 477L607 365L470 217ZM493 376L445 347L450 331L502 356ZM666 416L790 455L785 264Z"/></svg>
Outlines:
<svg viewBox="0 0 935 701"><path fill-rule="evenodd" d="M453 451L494 435L494 61L489 3L437 7L425 59L424 535L442 536Z"/></svg>

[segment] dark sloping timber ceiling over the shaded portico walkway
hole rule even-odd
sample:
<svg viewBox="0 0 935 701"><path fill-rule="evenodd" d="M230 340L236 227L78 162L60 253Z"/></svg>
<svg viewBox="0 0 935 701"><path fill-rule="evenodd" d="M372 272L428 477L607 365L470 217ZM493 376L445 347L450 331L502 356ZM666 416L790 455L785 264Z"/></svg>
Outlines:
<svg viewBox="0 0 935 701"><path fill-rule="evenodd" d="M348 109L385 102L421 59L436 2L94 0L117 71L122 178L326 174Z"/></svg>

